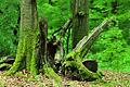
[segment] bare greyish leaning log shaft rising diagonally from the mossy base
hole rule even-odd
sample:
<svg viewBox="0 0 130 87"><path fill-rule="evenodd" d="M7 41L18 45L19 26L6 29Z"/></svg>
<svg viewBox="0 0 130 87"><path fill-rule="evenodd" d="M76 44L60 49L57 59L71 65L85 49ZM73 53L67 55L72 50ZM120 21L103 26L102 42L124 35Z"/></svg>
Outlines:
<svg viewBox="0 0 130 87"><path fill-rule="evenodd" d="M80 53L81 55L84 54L84 52L82 52L83 50L86 50L86 52L90 49L89 47L91 47L91 45L93 44L93 41L96 39L96 37L105 29L105 27L112 23L114 20L109 18L109 20L105 20L101 25L99 25L98 27L95 27L92 33L89 36L84 36L77 45L76 47L73 49L73 51L70 53L68 53L66 55L66 58L70 58L70 57L75 57L77 53ZM83 54L82 54L83 53Z"/></svg>

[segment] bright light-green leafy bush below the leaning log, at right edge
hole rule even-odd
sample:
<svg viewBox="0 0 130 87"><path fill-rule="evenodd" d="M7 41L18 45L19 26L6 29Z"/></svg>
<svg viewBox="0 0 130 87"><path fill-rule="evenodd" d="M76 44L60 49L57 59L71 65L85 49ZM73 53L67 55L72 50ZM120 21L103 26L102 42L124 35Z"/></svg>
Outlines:
<svg viewBox="0 0 130 87"><path fill-rule="evenodd" d="M98 59L100 67L115 71L130 71L130 46L122 37L122 30L112 27L101 34L88 54L90 59Z"/></svg>

